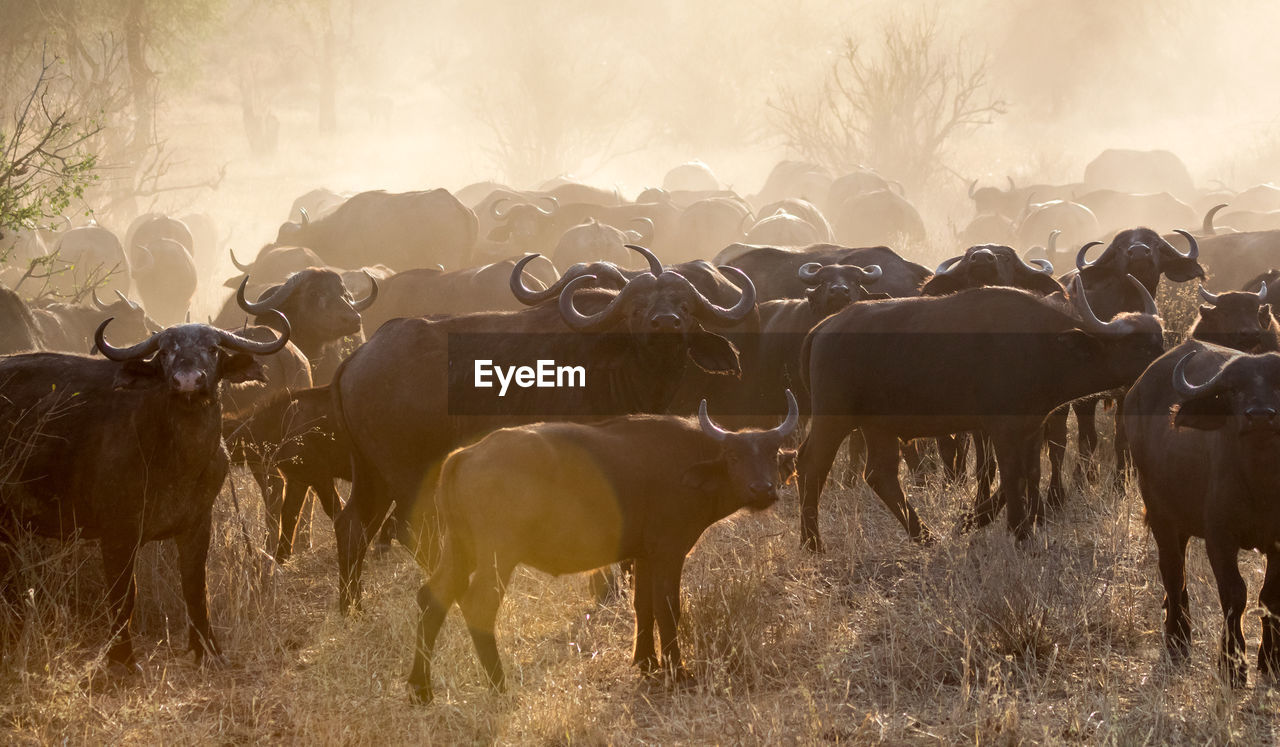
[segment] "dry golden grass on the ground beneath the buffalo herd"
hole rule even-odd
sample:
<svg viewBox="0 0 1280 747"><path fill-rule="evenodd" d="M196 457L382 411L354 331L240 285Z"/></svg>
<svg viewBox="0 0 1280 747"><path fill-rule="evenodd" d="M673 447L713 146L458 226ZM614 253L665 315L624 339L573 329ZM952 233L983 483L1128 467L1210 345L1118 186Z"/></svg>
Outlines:
<svg viewBox="0 0 1280 747"><path fill-rule="evenodd" d="M1106 480L1107 476L1103 476ZM1215 672L1220 615L1192 545L1190 663L1161 659L1155 546L1140 500L1075 491L1028 547L1001 527L956 536L965 490L913 490L942 531L910 546L865 486L832 486L828 553L797 549L794 495L703 537L685 569L686 663L668 691L630 666L631 613L598 609L582 577L520 570L499 617L511 689L484 686L453 613L435 661L436 702L403 680L420 572L401 550L369 563L366 609L335 613L328 528L271 572L246 542L265 535L237 475L218 505L210 562L215 629L229 664L197 670L172 549L145 554L137 615L143 674L93 677L106 623L96 547L32 542L45 560L0 666L6 743L1267 743L1280 693L1233 692ZM323 518L323 514L317 514ZM1256 594L1261 560L1244 556ZM1258 641L1258 615L1245 636Z"/></svg>

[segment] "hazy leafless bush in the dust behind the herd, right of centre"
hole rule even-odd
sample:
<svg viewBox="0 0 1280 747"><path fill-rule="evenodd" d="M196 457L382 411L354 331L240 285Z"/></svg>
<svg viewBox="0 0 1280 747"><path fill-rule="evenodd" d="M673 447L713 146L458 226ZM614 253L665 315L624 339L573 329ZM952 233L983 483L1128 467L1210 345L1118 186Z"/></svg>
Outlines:
<svg viewBox="0 0 1280 747"><path fill-rule="evenodd" d="M987 59L963 45L943 49L937 19L927 15L886 24L878 55L846 38L817 92L783 88L768 106L799 156L919 185L945 168L956 134L1005 113L987 78Z"/></svg>

